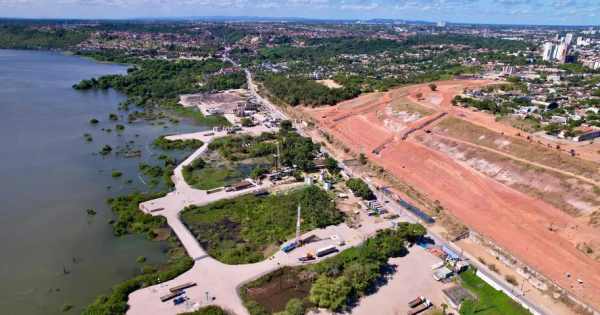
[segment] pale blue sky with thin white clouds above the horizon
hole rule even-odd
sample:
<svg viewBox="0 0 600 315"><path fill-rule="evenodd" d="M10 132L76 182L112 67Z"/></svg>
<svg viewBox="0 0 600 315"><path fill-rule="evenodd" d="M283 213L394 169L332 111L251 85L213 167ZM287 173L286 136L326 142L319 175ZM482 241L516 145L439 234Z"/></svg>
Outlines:
<svg viewBox="0 0 600 315"><path fill-rule="evenodd" d="M600 25L599 14L600 0L0 0L0 17L18 18L219 15Z"/></svg>

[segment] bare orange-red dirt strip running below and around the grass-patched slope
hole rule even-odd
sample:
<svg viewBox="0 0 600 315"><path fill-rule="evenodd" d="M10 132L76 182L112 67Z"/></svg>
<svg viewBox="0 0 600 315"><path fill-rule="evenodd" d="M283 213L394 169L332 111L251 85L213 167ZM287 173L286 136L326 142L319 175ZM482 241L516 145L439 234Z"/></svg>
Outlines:
<svg viewBox="0 0 600 315"><path fill-rule="evenodd" d="M429 117L444 110L452 116L467 118L468 121L493 131L502 130L507 135L515 135L520 131L495 123L487 114L473 113L450 105L451 98L459 93L461 87L468 85L474 88L490 83L496 82L440 82L436 83L436 92L427 91L427 85L403 87L382 98L377 103L381 105L378 111L385 113L384 100L410 92L410 100L438 111ZM425 100L417 101L417 93L425 95ZM312 111L311 115L323 122L321 127L324 130L349 147L365 153L371 161L401 177L430 200L439 200L446 209L473 229L491 238L577 297L600 308L600 264L577 250L572 243L576 236L581 235L598 239L600 231L580 226L581 222L576 218L500 184L444 153L427 148L411 138L403 141L398 135L394 137L394 133L377 119L375 111L359 113L355 110L352 116L333 121L350 112L334 107ZM322 118L323 116L326 118ZM416 127L426 120L414 122L410 127ZM388 145L379 156L372 153L373 149L385 143ZM564 174L564 171L561 172ZM541 224L548 221L568 230L562 231L560 235L552 232ZM571 274L570 278L564 276L567 272ZM584 285L580 287L577 279L582 279Z"/></svg>

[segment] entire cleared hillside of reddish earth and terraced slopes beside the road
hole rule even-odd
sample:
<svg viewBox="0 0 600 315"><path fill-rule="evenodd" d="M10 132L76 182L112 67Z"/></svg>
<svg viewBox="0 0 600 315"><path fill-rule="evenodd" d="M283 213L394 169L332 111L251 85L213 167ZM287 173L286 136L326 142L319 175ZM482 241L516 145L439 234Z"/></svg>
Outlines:
<svg viewBox="0 0 600 315"><path fill-rule="evenodd" d="M419 84L299 111L316 124L311 137L344 147L342 159L364 154L361 170L381 186L485 236L530 283L547 281L537 287L549 296L600 309L600 148L557 145L451 104L497 83Z"/></svg>

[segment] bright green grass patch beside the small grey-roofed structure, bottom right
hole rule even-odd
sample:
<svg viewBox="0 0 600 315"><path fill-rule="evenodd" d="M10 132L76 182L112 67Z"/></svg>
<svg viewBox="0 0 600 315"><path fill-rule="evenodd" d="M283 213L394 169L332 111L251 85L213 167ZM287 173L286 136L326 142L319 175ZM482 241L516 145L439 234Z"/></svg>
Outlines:
<svg viewBox="0 0 600 315"><path fill-rule="evenodd" d="M526 315L531 314L519 303L511 300L502 291L494 289L473 272L467 271L460 274L464 280L463 285L469 291L479 296L477 308L474 309L474 302L467 300L460 308L460 314L463 315Z"/></svg>

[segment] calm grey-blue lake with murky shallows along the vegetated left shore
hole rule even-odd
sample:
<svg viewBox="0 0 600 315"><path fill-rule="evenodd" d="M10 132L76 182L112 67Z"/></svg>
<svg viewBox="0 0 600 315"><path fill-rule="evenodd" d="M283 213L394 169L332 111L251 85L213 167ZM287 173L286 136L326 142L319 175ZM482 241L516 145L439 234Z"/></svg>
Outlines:
<svg viewBox="0 0 600 315"><path fill-rule="evenodd" d="M126 95L71 88L82 79L126 69L56 52L0 50L0 314L60 314L64 303L78 313L139 274L141 266L167 261L166 242L150 242L145 234L115 237L105 200L134 187L147 190L138 179L138 163L148 158L148 141L208 128L183 122L167 123L167 129L127 124L128 113L117 110ZM117 113L119 121L109 121L109 113ZM91 125L92 118L100 123ZM115 123L125 130L116 132ZM85 140L86 132L93 141ZM129 144L142 155L94 154L105 144L113 150ZM151 145L150 150L164 153ZM162 166L150 158L150 164L157 163ZM113 171L123 176L112 178ZM125 184L126 179L133 183ZM88 216L88 208L97 215ZM135 262L140 255L146 263Z"/></svg>

